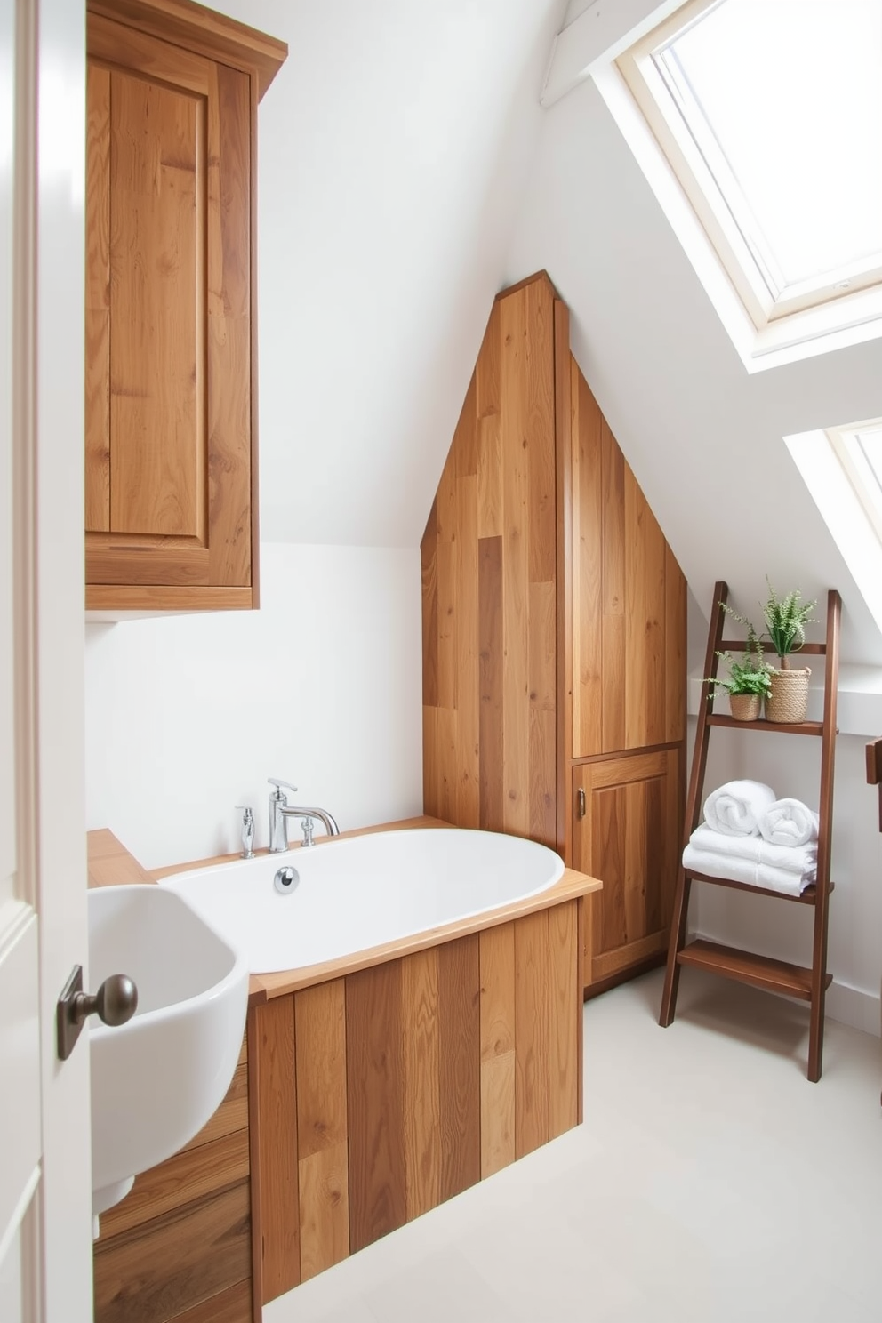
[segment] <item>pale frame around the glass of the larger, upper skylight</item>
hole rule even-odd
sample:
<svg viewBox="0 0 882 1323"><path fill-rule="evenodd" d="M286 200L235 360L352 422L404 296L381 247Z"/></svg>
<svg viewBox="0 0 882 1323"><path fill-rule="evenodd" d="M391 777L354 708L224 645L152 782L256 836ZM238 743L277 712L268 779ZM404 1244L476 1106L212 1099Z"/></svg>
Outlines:
<svg viewBox="0 0 882 1323"><path fill-rule="evenodd" d="M725 152L670 48L726 0L689 0L615 61L656 143L697 214L755 329L795 314L842 307L867 320L861 296L882 296L882 254L787 284ZM875 298L874 298L875 303ZM846 307L852 304L854 316ZM871 316L877 316L873 312Z"/></svg>

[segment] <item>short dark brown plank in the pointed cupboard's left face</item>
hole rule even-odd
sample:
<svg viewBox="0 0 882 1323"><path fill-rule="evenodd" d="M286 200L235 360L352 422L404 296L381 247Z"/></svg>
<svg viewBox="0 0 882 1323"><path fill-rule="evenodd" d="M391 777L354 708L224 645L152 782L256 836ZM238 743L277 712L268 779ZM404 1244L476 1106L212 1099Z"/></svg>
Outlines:
<svg viewBox="0 0 882 1323"><path fill-rule="evenodd" d="M502 815L502 538L481 537L477 550L480 683L480 827L501 831Z"/></svg>

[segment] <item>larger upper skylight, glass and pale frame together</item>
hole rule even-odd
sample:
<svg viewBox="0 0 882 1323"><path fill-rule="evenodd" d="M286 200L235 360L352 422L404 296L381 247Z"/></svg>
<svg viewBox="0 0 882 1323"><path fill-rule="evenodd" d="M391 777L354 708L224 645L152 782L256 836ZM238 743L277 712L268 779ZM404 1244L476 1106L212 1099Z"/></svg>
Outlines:
<svg viewBox="0 0 882 1323"><path fill-rule="evenodd" d="M758 331L882 314L879 0L690 0L616 64Z"/></svg>

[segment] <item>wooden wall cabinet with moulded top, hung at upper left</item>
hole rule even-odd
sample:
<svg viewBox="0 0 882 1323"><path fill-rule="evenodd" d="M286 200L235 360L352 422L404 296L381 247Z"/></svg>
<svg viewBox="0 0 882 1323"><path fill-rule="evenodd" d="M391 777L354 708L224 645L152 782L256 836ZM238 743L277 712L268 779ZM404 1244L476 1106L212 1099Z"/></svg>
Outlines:
<svg viewBox="0 0 882 1323"><path fill-rule="evenodd" d="M257 105L287 46L90 0L86 606L257 606Z"/></svg>

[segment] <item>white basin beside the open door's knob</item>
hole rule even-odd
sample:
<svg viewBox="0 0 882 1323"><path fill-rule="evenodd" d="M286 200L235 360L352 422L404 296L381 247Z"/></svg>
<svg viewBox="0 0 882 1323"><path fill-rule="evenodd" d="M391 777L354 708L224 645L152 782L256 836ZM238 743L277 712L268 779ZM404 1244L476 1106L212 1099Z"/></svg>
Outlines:
<svg viewBox="0 0 882 1323"><path fill-rule="evenodd" d="M177 1152L213 1115L242 1046L249 970L180 896L163 886L89 892L89 986L127 974L138 1011L119 1028L89 1021L93 1211Z"/></svg>

